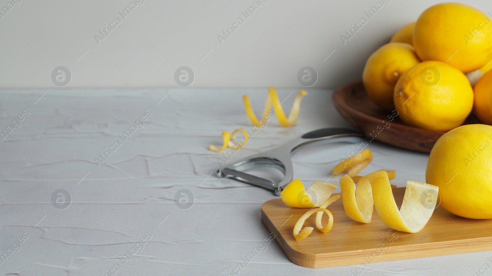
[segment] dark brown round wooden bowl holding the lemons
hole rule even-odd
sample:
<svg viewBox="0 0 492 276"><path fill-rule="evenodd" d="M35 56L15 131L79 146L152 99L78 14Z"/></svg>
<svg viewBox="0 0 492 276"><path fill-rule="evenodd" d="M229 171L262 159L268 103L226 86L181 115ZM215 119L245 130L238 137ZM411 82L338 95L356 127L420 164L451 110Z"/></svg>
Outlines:
<svg viewBox="0 0 492 276"><path fill-rule="evenodd" d="M333 92L333 102L340 115L353 127L364 132L369 140L378 140L397 147L431 152L432 146L445 132L404 125L395 110L381 110L367 95L362 81L345 84ZM476 123L468 117L464 124Z"/></svg>

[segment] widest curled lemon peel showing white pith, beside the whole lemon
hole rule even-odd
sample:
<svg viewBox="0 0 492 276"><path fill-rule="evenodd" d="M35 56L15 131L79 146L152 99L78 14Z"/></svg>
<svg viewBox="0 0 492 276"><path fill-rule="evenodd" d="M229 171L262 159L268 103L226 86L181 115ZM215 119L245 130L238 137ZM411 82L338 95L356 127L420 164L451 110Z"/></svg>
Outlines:
<svg viewBox="0 0 492 276"><path fill-rule="evenodd" d="M369 181L372 188L372 198L376 212L389 228L417 233L424 228L432 216L435 208L435 200L426 202L425 206L421 202L421 195L433 192L437 195L439 187L407 181L405 195L400 210L398 210L395 198L391 191L390 181L385 171L376 171L364 176L360 181ZM360 185L360 184L359 184Z"/></svg>

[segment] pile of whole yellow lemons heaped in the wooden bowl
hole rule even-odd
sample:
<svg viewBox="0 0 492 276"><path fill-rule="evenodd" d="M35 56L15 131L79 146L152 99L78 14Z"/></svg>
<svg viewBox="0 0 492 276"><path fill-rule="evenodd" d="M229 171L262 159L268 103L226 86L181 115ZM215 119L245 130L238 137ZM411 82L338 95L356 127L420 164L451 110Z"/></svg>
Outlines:
<svg viewBox="0 0 492 276"><path fill-rule="evenodd" d="M492 124L491 68L492 20L468 5L441 3L370 55L362 80L369 99L396 109L405 124L449 131L472 109Z"/></svg>

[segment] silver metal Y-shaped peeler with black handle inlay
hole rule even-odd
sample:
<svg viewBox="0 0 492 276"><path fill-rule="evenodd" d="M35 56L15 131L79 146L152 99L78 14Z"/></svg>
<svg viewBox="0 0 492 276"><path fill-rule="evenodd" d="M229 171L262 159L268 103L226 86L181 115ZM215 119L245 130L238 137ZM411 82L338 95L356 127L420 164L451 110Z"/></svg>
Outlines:
<svg viewBox="0 0 492 276"><path fill-rule="evenodd" d="M217 176L242 181L271 190L276 195L280 195L283 188L292 181L294 169L290 158L296 152L311 145L340 141L358 142L362 141L363 137L364 134L360 132L344 128L322 128L314 130L269 151L253 154L237 161L233 165L222 167L217 170ZM274 184L269 179L243 171L253 167L265 166L277 168L285 177L280 183Z"/></svg>

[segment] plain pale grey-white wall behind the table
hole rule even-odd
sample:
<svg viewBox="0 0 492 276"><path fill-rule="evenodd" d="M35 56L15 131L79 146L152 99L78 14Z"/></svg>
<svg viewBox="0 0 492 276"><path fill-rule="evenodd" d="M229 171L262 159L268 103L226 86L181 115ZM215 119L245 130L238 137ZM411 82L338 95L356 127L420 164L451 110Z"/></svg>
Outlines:
<svg viewBox="0 0 492 276"><path fill-rule="evenodd" d="M180 87L181 66L195 74L190 87L303 87L297 73L311 66L312 88L333 88L361 78L386 32L440 2L391 0L368 19L377 0L267 0L245 19L254 0L144 0L122 19L131 0L20 1L0 19L1 88L57 88L58 66L72 74L66 88ZM460 2L492 11L490 0ZM122 23L98 45L94 35L116 17ZM217 35L239 17L244 24L221 45ZM340 35L362 17L369 22L344 45Z"/></svg>

